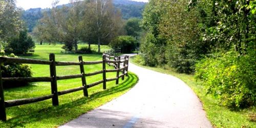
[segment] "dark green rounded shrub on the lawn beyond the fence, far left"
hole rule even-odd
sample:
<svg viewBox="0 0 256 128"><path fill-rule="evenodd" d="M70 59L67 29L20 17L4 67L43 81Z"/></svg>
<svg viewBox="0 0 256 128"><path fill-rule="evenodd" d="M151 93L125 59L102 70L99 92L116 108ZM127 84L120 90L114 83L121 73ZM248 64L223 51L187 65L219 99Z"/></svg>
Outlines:
<svg viewBox="0 0 256 128"><path fill-rule="evenodd" d="M17 37L14 37L5 47L7 53L26 54L30 49L35 48L35 43L32 37L28 35L27 30L19 32Z"/></svg>

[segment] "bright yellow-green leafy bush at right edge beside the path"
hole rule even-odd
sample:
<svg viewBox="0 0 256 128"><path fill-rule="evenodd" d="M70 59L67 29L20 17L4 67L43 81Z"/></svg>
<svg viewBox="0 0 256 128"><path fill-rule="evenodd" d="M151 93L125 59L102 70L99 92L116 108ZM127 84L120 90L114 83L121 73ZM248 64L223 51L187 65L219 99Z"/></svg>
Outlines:
<svg viewBox="0 0 256 128"><path fill-rule="evenodd" d="M238 56L228 52L201 60L196 65L197 79L204 81L207 93L218 97L230 108L255 105L256 54Z"/></svg>

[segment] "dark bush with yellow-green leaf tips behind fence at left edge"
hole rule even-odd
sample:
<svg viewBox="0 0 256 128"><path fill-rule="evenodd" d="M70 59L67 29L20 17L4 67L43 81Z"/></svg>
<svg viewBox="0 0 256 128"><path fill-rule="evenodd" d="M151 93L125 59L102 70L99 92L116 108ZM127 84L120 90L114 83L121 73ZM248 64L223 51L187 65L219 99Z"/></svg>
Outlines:
<svg viewBox="0 0 256 128"><path fill-rule="evenodd" d="M2 51L1 51L2 54ZM2 54L2 56L4 56ZM17 57L14 54L11 54L10 57ZM20 63L1 63L1 72L2 77L31 77L32 71L29 65L20 64ZM4 88L13 88L26 86L28 82L3 82Z"/></svg>

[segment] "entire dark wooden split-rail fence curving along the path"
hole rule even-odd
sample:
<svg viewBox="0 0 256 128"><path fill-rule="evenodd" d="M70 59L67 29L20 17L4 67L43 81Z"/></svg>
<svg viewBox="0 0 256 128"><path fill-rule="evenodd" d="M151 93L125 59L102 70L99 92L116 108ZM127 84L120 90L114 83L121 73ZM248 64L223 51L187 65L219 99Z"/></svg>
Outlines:
<svg viewBox="0 0 256 128"><path fill-rule="evenodd" d="M113 57L114 59L111 59ZM3 78L2 73L0 73L0 119L6 121L6 108L23 105L38 101L43 101L47 99L52 99L53 105L58 105L58 96L76 92L83 90L83 95L88 97L88 88L97 86L98 84L103 83L103 89L106 89L106 82L116 80L116 84L119 83L119 78L124 79L124 76L128 75L128 63L129 57L117 57L110 56L108 54L102 55L101 61L83 61L82 56L78 57L79 62L64 62L64 61L55 61L55 55L50 54L49 60L39 60L39 59L27 59L27 58L12 58L12 57L0 57L0 63L5 62L13 62L13 63L28 63L28 64L38 64L38 65L49 65L50 66L50 77L11 77L11 78ZM93 73L85 73L84 65L96 65L102 63L102 70L93 72ZM112 65L115 69L106 69L106 63L108 65ZM76 75L65 75L65 76L57 76L56 75L56 66L80 66L80 74ZM122 66L122 67L121 67ZM0 71L1 67L0 67ZM115 78L106 78L106 73L108 72L116 72ZM121 72L121 74L120 74ZM102 74L102 80L87 84L86 77L93 76L97 74ZM57 80L64 79L74 79L81 78L82 86L74 89L58 91ZM41 96L36 98L26 98L26 99L15 99L15 100L7 100L4 98L4 89L3 89L3 81L25 81L25 82L51 82L51 95Z"/></svg>

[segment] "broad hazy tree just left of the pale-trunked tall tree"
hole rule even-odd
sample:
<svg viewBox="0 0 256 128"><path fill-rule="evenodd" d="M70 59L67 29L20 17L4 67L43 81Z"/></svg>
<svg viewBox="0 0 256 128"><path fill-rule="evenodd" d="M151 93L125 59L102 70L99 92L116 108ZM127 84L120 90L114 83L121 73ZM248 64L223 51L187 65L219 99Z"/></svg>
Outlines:
<svg viewBox="0 0 256 128"><path fill-rule="evenodd" d="M71 7L63 6L57 8L58 1L53 3L53 8L50 12L45 12L44 17L40 20L37 26L38 39L45 37L48 41L65 42L66 50L78 50L77 42L81 31L80 18L81 10L80 3L76 1L70 1Z"/></svg>

